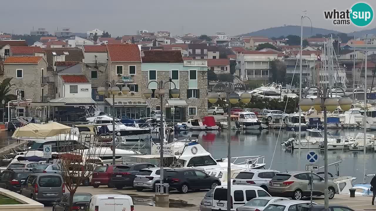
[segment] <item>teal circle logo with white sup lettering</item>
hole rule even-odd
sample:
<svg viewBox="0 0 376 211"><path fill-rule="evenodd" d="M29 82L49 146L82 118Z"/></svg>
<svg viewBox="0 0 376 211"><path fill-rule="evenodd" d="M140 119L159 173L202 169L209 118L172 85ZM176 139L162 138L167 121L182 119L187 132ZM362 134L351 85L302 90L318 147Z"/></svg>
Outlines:
<svg viewBox="0 0 376 211"><path fill-rule="evenodd" d="M373 10L366 3L356 3L351 8L350 19L356 26L367 26L373 19Z"/></svg>

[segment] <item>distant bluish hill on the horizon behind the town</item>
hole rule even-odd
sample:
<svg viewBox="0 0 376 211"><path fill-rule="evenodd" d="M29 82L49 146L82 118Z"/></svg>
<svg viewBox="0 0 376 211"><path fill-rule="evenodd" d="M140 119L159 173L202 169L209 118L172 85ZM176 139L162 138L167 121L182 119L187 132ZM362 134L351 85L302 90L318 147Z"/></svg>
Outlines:
<svg viewBox="0 0 376 211"><path fill-rule="evenodd" d="M329 29L322 29L322 28L312 28L311 27L303 27L303 38L307 38L316 34L327 35L329 33L342 33L335 30ZM246 33L240 36L267 36L271 37L280 37L280 36L287 36L287 35L297 35L300 36L300 26L280 26L280 27L273 27L269 29L261 29L256 32Z"/></svg>

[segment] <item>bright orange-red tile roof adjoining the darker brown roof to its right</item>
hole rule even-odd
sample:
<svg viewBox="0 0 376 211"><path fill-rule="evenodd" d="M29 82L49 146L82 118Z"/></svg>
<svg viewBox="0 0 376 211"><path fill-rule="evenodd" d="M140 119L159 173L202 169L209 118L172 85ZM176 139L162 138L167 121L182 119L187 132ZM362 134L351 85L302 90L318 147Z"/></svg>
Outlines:
<svg viewBox="0 0 376 211"><path fill-rule="evenodd" d="M140 51L136 44L107 45L111 62L141 62Z"/></svg>

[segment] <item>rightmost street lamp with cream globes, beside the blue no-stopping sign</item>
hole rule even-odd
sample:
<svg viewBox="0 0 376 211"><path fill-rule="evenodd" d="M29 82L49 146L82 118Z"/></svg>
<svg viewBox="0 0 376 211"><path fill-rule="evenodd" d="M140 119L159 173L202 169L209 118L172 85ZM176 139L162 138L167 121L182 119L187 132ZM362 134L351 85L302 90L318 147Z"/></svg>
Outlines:
<svg viewBox="0 0 376 211"><path fill-rule="evenodd" d="M326 111L334 112L338 105L340 105L341 109L344 111L348 111L351 108L352 100L350 98L341 98L339 101L332 97L332 89L333 88L340 88L345 95L345 91L340 86L333 86L333 87L326 87L324 89L320 89L317 86L309 87L305 92L305 97L307 97L307 93L309 89L316 88L317 89L317 98L313 101L308 98L302 98L299 101L300 110L307 112L311 109L311 106L315 108L317 111L324 112L324 182L325 182L325 191L324 191L324 203L325 203L325 210L329 208L329 196L328 196L328 146L327 146L327 122L326 122ZM322 87L321 87L322 88ZM329 96L330 94L330 96ZM300 157L299 157L300 160Z"/></svg>

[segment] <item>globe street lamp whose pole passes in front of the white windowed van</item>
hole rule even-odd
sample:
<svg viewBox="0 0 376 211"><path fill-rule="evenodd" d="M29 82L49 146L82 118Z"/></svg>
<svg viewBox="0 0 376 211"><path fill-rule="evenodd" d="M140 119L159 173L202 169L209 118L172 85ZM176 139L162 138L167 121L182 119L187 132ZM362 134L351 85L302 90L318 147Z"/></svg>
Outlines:
<svg viewBox="0 0 376 211"><path fill-rule="evenodd" d="M231 139L231 104L236 104L240 101L247 104L251 101L252 95L250 93L244 92L240 95L235 93L235 85L238 83L218 83L213 87L213 90L218 89L220 86L223 87L226 92L217 93L217 92L209 92L208 93L208 101L211 103L217 102L218 98L226 98L228 102L228 109L227 109L227 211L231 210L231 148L230 148L230 139ZM246 87L244 84L244 90Z"/></svg>

